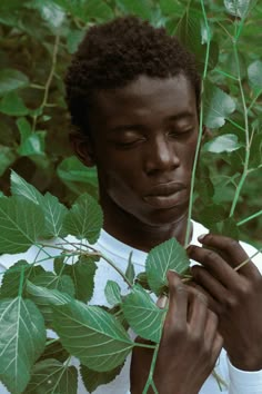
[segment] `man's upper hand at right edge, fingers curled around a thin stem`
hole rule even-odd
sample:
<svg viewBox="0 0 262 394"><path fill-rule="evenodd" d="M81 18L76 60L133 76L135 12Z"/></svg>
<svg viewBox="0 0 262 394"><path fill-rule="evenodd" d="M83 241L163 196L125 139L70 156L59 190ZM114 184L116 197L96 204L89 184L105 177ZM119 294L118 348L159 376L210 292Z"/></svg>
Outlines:
<svg viewBox="0 0 262 394"><path fill-rule="evenodd" d="M249 259L238 242L212 234L199 240L206 248L188 248L203 266L192 267L192 275L219 316L230 361L240 370L262 370L262 276L252 262L238 270Z"/></svg>

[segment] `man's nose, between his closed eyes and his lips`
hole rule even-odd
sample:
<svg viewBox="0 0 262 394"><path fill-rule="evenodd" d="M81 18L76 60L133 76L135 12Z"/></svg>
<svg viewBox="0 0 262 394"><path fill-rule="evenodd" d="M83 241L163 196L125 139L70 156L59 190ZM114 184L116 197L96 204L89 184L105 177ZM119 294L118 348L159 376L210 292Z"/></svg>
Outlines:
<svg viewBox="0 0 262 394"><path fill-rule="evenodd" d="M174 141L165 136L151 141L148 145L148 151L145 157L145 170L147 174L153 174L155 171L172 170L180 165L180 159L175 151Z"/></svg>

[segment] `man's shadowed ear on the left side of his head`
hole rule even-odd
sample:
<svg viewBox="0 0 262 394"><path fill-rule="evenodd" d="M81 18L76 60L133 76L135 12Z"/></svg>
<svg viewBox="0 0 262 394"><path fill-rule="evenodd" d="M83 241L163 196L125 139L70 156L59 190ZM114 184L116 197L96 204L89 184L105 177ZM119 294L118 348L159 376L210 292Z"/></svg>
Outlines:
<svg viewBox="0 0 262 394"><path fill-rule="evenodd" d="M81 132L70 132L69 139L73 148L74 154L79 160L87 167L95 166L92 144L88 136L83 136Z"/></svg>

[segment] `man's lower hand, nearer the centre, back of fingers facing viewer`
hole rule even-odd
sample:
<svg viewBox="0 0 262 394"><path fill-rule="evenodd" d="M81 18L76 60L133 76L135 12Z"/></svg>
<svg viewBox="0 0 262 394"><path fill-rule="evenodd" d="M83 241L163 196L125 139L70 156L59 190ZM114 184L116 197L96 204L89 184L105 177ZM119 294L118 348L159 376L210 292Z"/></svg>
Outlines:
<svg viewBox="0 0 262 394"><path fill-rule="evenodd" d="M196 394L212 372L222 348L218 317L209 311L205 296L183 285L178 275L169 272L168 279L169 309L153 380L160 394ZM149 348L134 347L132 394L143 392L152 353Z"/></svg>

